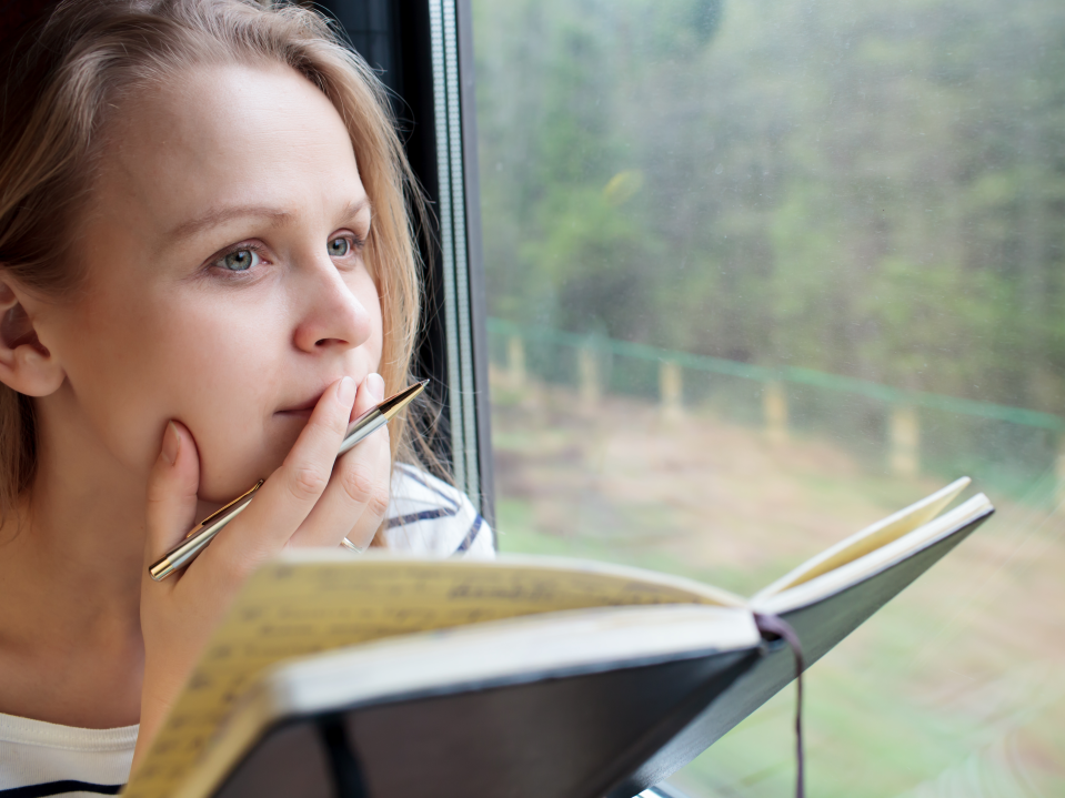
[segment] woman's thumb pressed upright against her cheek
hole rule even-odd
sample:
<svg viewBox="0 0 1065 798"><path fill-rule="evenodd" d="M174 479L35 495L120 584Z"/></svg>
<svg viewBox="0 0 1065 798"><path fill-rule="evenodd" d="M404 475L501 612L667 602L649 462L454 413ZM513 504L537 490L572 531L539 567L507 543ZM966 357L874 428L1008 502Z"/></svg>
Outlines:
<svg viewBox="0 0 1065 798"><path fill-rule="evenodd" d="M168 422L148 477L147 563L162 557L192 528L199 486L200 461L192 433L181 422Z"/></svg>

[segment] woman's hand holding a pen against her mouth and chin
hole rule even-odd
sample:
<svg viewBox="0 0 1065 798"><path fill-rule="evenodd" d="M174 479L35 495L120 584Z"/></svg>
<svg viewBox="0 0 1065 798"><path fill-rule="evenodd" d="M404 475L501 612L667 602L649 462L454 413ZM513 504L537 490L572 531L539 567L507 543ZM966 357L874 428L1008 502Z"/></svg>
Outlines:
<svg viewBox="0 0 1065 798"><path fill-rule="evenodd" d="M211 633L243 582L287 546L369 545L389 503L391 455L384 427L335 462L350 418L384 396L371 374L356 395L351 377L319 400L284 463L184 570L141 586L144 681L134 766L148 750ZM195 521L200 466L192 435L170 422L148 484L145 563L177 545Z"/></svg>

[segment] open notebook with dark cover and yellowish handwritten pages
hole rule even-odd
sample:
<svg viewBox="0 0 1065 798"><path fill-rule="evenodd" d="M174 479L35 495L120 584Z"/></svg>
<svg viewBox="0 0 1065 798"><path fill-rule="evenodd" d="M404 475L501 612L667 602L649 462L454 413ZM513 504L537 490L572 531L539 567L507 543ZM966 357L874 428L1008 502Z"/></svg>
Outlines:
<svg viewBox="0 0 1065 798"><path fill-rule="evenodd" d="M959 479L753 598L543 557L285 555L215 630L128 796L627 798L794 678L993 513Z"/></svg>

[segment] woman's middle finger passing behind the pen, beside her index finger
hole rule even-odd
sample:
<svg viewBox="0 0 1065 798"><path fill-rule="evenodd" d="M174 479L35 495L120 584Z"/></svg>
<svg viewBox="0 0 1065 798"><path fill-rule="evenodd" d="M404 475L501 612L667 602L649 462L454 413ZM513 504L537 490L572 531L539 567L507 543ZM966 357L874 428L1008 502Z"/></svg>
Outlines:
<svg viewBox="0 0 1065 798"><path fill-rule="evenodd" d="M383 398L384 381L369 375L352 415L361 415ZM329 486L291 545L338 546L344 537L359 547L369 545L388 512L391 472L389 433L382 427L336 461Z"/></svg>

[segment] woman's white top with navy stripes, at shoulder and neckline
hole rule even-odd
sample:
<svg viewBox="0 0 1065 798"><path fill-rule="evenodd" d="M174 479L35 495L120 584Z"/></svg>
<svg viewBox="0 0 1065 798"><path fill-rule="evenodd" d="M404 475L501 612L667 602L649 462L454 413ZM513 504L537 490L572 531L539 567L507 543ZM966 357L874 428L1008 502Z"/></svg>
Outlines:
<svg viewBox="0 0 1065 798"><path fill-rule="evenodd" d="M439 556L495 554L492 531L462 493L398 464L384 531L389 548ZM0 798L118 795L137 726L80 729L0 713Z"/></svg>

